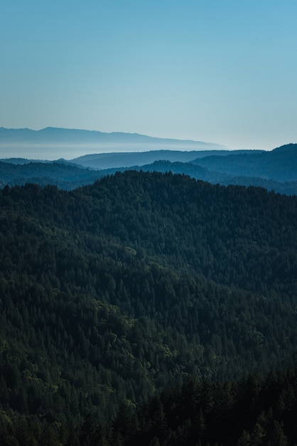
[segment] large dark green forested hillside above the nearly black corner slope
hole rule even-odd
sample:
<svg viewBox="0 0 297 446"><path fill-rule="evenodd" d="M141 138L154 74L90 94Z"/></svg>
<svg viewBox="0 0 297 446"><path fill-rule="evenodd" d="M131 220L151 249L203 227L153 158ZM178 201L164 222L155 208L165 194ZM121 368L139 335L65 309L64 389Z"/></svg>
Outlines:
<svg viewBox="0 0 297 446"><path fill-rule="evenodd" d="M295 365L296 222L296 197L170 173L4 187L1 442L293 439L293 372L223 383Z"/></svg>

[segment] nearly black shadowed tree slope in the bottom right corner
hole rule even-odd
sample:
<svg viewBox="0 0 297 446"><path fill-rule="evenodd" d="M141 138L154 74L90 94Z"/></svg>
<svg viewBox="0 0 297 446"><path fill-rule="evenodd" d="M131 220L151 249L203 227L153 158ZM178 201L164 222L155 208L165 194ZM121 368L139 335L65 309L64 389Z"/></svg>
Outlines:
<svg viewBox="0 0 297 446"><path fill-rule="evenodd" d="M88 427L94 440L112 446L296 446L296 378L289 369L223 385L191 379L136 414L121 406L109 428L89 418L81 434Z"/></svg>

